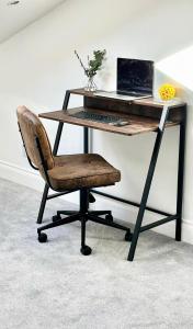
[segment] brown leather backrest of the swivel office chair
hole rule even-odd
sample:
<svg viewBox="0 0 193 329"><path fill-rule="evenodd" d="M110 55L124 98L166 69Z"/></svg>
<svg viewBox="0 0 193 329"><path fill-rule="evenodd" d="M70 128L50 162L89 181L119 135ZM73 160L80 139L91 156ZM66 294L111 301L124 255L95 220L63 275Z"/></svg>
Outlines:
<svg viewBox="0 0 193 329"><path fill-rule="evenodd" d="M52 169L54 167L54 158L46 131L38 116L25 106L19 106L16 115L27 156L31 162L38 168L44 179L46 179L36 144L36 138L38 138L46 169Z"/></svg>

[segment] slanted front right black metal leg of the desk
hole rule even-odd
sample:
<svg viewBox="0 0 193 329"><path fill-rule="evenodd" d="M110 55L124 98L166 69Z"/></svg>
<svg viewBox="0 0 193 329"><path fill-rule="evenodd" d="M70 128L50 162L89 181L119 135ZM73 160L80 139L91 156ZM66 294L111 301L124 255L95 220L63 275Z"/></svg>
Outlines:
<svg viewBox="0 0 193 329"><path fill-rule="evenodd" d="M149 164L149 169L148 169L148 173L147 173L147 179L146 179L146 183L145 183L145 188L144 188L144 192L143 192L143 196L141 196L141 201L140 201L140 206L139 206L139 211L138 211L138 215L137 215L136 225L134 228L132 245L130 245L130 249L129 249L128 258L127 258L128 261L134 260L135 250L137 247L137 241L138 241L140 227L141 227L141 223L143 223L143 218L144 218L144 213L146 209L147 200L149 196L149 191L150 191L150 186L151 186L151 182L152 182L152 178L154 178L154 173L155 173L155 169L156 169L156 163L158 160L159 149L161 146L161 140L162 140L162 136L163 136L163 132L164 132L164 126L166 126L166 122L168 118L168 113L169 113L169 109L168 109L168 106L164 106L163 111L162 111L156 141L155 141L155 147L152 150L152 156L151 156L151 160L150 160L150 164Z"/></svg>

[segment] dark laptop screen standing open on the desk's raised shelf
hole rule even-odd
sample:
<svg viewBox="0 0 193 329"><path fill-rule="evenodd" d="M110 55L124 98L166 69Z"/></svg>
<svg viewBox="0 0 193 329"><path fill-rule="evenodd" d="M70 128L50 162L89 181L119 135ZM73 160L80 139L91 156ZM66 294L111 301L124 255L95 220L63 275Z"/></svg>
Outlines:
<svg viewBox="0 0 193 329"><path fill-rule="evenodd" d="M154 61L117 58L117 92L152 94Z"/></svg>

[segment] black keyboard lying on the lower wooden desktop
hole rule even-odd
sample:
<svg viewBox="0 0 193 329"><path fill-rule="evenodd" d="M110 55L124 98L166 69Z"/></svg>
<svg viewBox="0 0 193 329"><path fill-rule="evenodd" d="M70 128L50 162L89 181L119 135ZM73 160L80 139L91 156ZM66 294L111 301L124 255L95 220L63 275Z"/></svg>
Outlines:
<svg viewBox="0 0 193 329"><path fill-rule="evenodd" d="M80 111L75 114L70 114L70 116L82 118L82 120L90 120L100 123L106 123L106 124L115 123L122 120L120 116L115 116L115 115L103 115L103 114L96 114L96 113L86 112L86 111Z"/></svg>

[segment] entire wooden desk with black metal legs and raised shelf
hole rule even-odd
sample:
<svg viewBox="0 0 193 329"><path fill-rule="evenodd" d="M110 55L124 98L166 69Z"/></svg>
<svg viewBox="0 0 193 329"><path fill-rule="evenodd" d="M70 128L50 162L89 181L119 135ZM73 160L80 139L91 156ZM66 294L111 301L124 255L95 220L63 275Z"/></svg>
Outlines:
<svg viewBox="0 0 193 329"><path fill-rule="evenodd" d="M69 98L71 94L82 95L83 106L67 110ZM94 112L98 114L105 114L105 115L111 114L111 115L121 116L123 117L124 121L128 121L129 124L124 127L116 127L104 123L98 123L89 120L80 120L70 116L70 114L82 110L88 112ZM47 120L59 122L54 151L53 151L55 155L57 154L58 150L64 123L79 125L83 127L83 132L84 132L83 151L84 152L89 152L89 128L100 129L100 131L126 135L126 136L155 132L156 140L155 140L155 146L154 146L140 203L123 200L121 197L116 197L114 195L110 195L95 190L91 190L91 191L92 193L96 193L105 197L110 197L139 207L136 225L133 232L129 253L128 253L129 261L133 261L134 259L139 234L150 228L154 228L156 226L166 224L171 220L175 220L175 240L181 241L185 121L186 121L185 103L181 102L181 103L172 103L167 105L164 103L157 102L151 98L128 102L124 100L113 100L113 99L98 97L94 95L94 93L92 92L86 92L83 89L73 89L73 90L68 90L66 92L61 111L42 113L39 114L39 116ZM164 211L148 207L147 200L148 200L164 129L177 125L179 125L180 127L177 212L175 214L168 214ZM39 209L38 223L41 223L42 220L45 202L48 197L47 195L48 195L48 188L45 186L42 205ZM146 209L157 214L161 214L164 216L164 218L151 223L149 225L141 226Z"/></svg>

